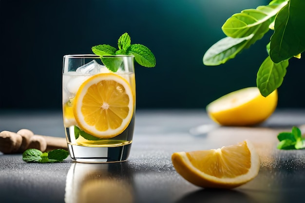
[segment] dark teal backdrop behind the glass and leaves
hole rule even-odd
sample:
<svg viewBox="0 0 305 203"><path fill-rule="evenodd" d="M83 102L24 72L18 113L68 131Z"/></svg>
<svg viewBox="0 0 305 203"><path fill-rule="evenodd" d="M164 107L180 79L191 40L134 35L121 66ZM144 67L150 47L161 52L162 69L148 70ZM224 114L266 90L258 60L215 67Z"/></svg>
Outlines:
<svg viewBox="0 0 305 203"><path fill-rule="evenodd" d="M117 47L127 32L149 47L154 68L135 65L137 108L205 108L214 99L256 86L267 35L216 67L204 53L225 37L234 13L268 0L0 0L0 109L61 109L62 56ZM278 108L305 107L304 60L291 59Z"/></svg>

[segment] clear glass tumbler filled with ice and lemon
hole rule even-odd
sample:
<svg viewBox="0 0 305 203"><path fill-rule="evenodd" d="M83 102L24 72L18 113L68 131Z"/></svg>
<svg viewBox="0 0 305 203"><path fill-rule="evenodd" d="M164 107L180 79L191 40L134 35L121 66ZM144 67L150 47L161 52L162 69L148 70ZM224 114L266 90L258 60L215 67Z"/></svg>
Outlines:
<svg viewBox="0 0 305 203"><path fill-rule="evenodd" d="M65 55L62 110L73 160L127 160L135 117L133 56Z"/></svg>

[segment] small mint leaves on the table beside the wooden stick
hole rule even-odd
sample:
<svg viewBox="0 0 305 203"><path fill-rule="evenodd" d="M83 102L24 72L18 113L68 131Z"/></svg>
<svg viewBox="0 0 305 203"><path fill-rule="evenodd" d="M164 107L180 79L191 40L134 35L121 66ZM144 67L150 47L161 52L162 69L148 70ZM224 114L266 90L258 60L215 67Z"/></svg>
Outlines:
<svg viewBox="0 0 305 203"><path fill-rule="evenodd" d="M69 156L69 152L64 149L54 149L42 153L38 149L27 149L22 154L22 159L29 163L57 163L62 162Z"/></svg>

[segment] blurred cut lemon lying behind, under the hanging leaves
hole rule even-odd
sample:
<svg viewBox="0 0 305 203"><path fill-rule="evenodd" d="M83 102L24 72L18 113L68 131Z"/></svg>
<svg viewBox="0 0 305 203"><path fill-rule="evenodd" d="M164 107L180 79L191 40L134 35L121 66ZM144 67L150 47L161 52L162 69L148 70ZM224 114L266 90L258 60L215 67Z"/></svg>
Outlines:
<svg viewBox="0 0 305 203"><path fill-rule="evenodd" d="M207 105L210 118L224 126L251 126L265 121L276 109L277 90L267 97L257 87L230 92Z"/></svg>

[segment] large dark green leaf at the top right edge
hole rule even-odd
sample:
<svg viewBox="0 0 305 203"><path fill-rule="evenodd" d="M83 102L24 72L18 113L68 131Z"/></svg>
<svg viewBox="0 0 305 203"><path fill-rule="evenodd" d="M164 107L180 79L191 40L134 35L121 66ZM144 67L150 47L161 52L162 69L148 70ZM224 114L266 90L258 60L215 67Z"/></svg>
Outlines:
<svg viewBox="0 0 305 203"><path fill-rule="evenodd" d="M304 8L304 0L289 0L279 11L270 39L270 57L275 63L305 51Z"/></svg>

